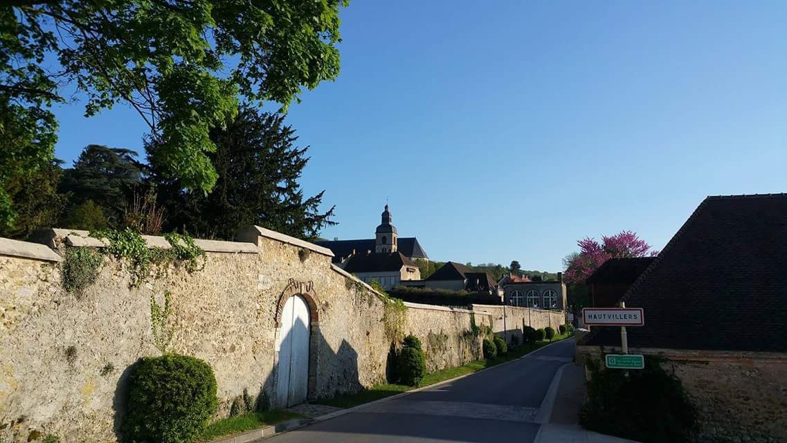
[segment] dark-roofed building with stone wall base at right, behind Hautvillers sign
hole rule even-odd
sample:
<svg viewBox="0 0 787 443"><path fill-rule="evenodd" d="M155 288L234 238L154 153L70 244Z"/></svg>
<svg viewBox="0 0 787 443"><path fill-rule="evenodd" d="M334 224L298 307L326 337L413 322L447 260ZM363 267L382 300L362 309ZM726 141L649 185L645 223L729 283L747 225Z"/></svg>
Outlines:
<svg viewBox="0 0 787 443"><path fill-rule="evenodd" d="M644 311L629 352L666 359L700 441L787 441L787 194L706 198L620 300ZM619 327L592 327L577 350L620 344Z"/></svg>

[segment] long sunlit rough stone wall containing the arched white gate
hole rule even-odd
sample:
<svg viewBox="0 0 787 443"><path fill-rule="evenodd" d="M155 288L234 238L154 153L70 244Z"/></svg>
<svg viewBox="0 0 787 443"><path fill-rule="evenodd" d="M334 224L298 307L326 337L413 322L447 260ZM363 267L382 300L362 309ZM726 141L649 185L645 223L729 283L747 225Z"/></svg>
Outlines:
<svg viewBox="0 0 787 443"><path fill-rule="evenodd" d="M96 244L69 238L54 238L51 245L63 253L65 244ZM161 238L148 242L160 244ZM201 244L245 252L208 252L200 271L173 265L134 288L127 264L105 257L98 279L76 295L62 287L59 256L42 260L0 243L0 441L45 434L63 443L116 441L129 368L142 356L161 354L153 342L150 303L153 297L163 305L164 293L171 294L173 308L168 350L211 365L220 398L216 418L227 415L244 389L275 399L277 316L294 293L308 298L312 310L310 398L385 380L386 302L331 266L324 249L276 233L258 236L253 245ZM427 346L434 370L477 358L478 340L460 339L472 317L464 310L410 305L405 327ZM485 317L475 321L489 324ZM432 335L448 338L435 341Z"/></svg>

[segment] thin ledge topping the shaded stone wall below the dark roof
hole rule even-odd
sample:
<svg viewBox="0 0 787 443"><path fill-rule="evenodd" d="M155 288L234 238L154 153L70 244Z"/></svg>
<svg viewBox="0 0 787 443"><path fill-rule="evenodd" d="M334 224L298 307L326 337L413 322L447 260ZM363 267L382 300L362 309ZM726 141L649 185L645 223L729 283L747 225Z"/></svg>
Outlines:
<svg viewBox="0 0 787 443"><path fill-rule="evenodd" d="M620 349L615 346L604 346L605 351ZM577 352L600 355L599 346L577 345ZM713 351L704 349L666 349L666 348L635 348L629 347L629 353L641 353L652 356L663 356L669 360L713 360L719 362L767 361L776 364L787 364L787 353L757 353L751 351Z"/></svg>

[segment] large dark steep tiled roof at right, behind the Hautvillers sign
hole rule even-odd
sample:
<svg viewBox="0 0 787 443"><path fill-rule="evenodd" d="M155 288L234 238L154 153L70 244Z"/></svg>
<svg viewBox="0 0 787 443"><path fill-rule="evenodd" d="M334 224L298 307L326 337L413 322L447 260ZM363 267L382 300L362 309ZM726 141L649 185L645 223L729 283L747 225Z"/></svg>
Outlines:
<svg viewBox="0 0 787 443"><path fill-rule="evenodd" d="M706 198L623 295L638 348L787 351L787 194ZM594 327L586 345L620 345Z"/></svg>

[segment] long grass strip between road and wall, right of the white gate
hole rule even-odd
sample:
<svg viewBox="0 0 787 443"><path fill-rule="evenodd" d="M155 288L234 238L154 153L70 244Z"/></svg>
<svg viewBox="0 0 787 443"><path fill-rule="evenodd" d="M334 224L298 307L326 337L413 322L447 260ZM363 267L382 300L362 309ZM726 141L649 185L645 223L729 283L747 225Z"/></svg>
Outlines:
<svg viewBox="0 0 787 443"><path fill-rule="evenodd" d="M486 369L487 367L493 367L497 364L515 360L528 353L532 353L536 349L542 348L546 345L549 345L550 343L560 341L568 337L569 336L567 334L556 335L555 338L552 338L552 341L536 341L532 345L521 345L516 348L509 348L508 353L504 356L497 356L493 359L475 360L471 361L470 363L463 364L462 366L449 367L440 371L434 371L430 374L427 374L423 380L421 380L419 386L394 385L386 383L383 385L372 386L370 389L364 389L360 393L340 395L334 398L323 398L314 401L314 403L327 404L328 406L334 406L336 408L352 408L353 406L357 406L359 404L390 397L392 395L396 395L397 393L407 392L408 390L434 385L435 383L445 382L445 380L449 380L451 378L472 374L474 372L481 371L482 369Z"/></svg>

